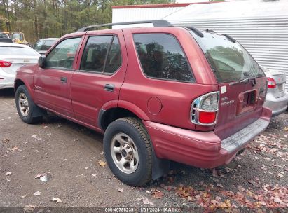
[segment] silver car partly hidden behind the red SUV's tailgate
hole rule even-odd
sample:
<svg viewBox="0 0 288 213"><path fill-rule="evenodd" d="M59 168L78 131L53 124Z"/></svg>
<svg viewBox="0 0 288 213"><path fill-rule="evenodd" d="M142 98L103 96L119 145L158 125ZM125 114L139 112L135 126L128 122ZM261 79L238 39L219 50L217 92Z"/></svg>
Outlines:
<svg viewBox="0 0 288 213"><path fill-rule="evenodd" d="M286 77L280 71L273 71L262 67L268 81L268 91L265 107L272 110L272 116L282 114L287 109L288 94L285 92Z"/></svg>

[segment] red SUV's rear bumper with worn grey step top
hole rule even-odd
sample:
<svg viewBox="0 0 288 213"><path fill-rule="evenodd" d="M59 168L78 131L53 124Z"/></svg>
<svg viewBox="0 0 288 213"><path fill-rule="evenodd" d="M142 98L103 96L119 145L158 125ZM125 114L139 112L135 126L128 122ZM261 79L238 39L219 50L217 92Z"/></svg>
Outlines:
<svg viewBox="0 0 288 213"><path fill-rule="evenodd" d="M270 122L271 111L263 107L261 118L234 135L221 139L214 132L196 132L144 121L158 158L196 167L213 168L229 163Z"/></svg>

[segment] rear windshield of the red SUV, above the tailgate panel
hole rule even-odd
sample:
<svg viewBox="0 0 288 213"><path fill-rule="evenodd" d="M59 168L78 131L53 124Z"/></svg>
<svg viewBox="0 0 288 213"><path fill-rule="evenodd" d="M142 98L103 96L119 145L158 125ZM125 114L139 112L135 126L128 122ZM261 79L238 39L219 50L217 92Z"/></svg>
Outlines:
<svg viewBox="0 0 288 213"><path fill-rule="evenodd" d="M202 48L219 83L264 76L259 64L238 42L207 32L203 32L203 38L191 34Z"/></svg>

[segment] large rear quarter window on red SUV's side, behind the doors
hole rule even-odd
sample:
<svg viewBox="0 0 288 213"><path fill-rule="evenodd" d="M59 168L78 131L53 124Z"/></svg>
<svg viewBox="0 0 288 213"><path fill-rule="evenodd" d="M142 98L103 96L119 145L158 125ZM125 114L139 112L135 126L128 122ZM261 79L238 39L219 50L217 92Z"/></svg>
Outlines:
<svg viewBox="0 0 288 213"><path fill-rule="evenodd" d="M170 34L134 34L142 69L151 78L195 82L186 56Z"/></svg>

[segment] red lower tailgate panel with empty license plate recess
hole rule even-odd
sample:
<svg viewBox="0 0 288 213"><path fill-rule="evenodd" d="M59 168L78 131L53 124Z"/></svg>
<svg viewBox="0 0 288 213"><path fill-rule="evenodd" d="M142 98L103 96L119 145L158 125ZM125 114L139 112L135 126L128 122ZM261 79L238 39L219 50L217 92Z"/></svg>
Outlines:
<svg viewBox="0 0 288 213"><path fill-rule="evenodd" d="M225 139L256 121L266 97L266 77L219 83L220 99L214 132Z"/></svg>

